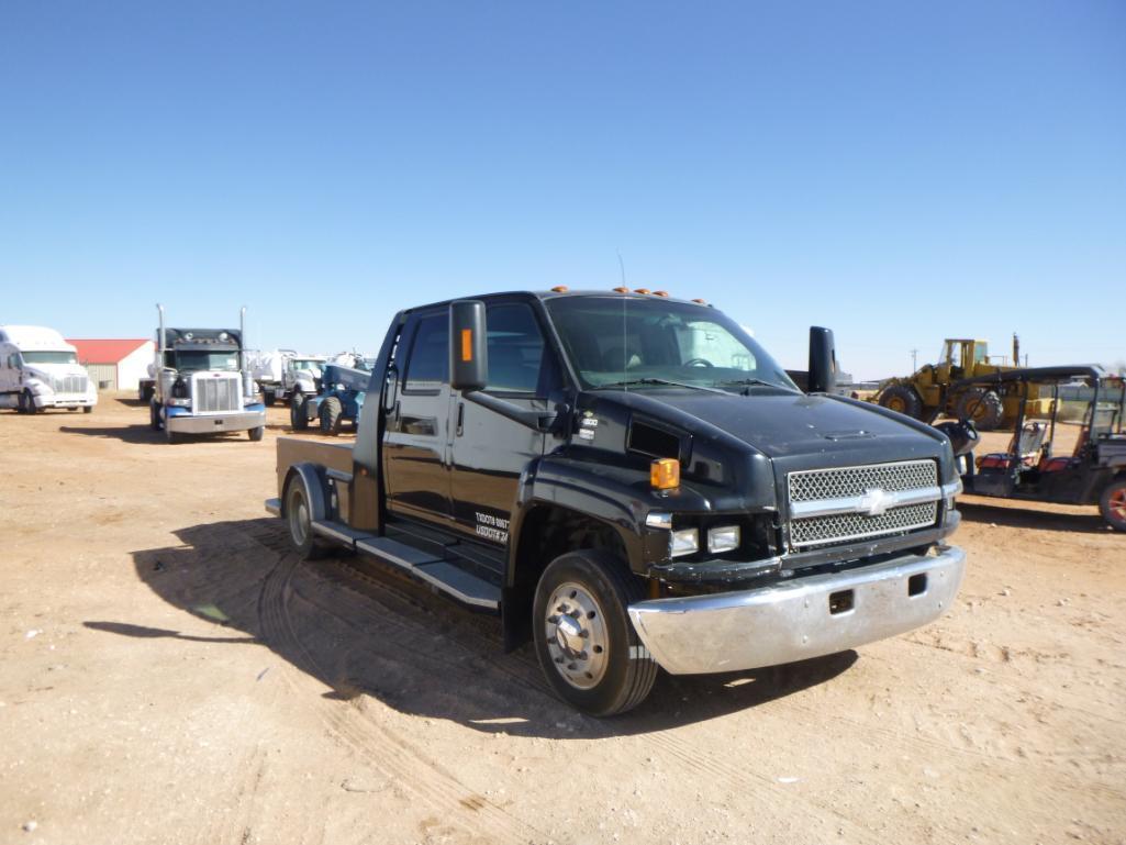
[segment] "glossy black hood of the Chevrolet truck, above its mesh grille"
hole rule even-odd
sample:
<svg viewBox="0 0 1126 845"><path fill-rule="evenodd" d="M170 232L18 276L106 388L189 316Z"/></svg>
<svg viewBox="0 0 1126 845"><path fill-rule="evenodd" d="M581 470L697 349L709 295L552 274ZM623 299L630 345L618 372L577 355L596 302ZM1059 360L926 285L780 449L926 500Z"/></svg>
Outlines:
<svg viewBox="0 0 1126 845"><path fill-rule="evenodd" d="M878 406L802 393L646 389L613 395L635 418L643 415L672 424L701 446L727 435L783 471L933 457L947 474L946 437Z"/></svg>

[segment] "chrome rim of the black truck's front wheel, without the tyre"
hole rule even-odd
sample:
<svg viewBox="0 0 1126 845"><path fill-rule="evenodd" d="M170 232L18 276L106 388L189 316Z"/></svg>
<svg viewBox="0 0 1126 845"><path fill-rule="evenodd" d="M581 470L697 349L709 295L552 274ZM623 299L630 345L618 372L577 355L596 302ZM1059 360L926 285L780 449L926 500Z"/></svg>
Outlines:
<svg viewBox="0 0 1126 845"><path fill-rule="evenodd" d="M547 653L560 676L577 690L590 690L606 675L609 632L598 601L581 585L555 588L544 619Z"/></svg>

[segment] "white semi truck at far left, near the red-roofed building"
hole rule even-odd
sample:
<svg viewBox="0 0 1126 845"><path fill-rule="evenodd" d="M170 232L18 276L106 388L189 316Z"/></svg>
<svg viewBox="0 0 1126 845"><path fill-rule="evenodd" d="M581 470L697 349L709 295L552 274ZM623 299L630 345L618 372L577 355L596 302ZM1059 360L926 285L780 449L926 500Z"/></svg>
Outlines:
<svg viewBox="0 0 1126 845"><path fill-rule="evenodd" d="M54 329L0 326L0 408L36 413L98 403L98 390L78 363L78 349Z"/></svg>

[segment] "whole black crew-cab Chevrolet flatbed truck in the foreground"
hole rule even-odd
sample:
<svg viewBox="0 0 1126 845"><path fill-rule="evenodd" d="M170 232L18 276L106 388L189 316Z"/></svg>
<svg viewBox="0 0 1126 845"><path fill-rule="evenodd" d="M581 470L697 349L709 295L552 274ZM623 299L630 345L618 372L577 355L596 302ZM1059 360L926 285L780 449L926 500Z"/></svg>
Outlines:
<svg viewBox="0 0 1126 845"><path fill-rule="evenodd" d="M278 439L305 557L373 555L535 641L610 715L673 674L834 653L936 619L965 557L947 436L798 390L718 310L649 292L510 293L400 312L354 446Z"/></svg>

